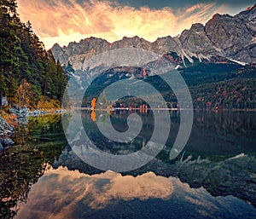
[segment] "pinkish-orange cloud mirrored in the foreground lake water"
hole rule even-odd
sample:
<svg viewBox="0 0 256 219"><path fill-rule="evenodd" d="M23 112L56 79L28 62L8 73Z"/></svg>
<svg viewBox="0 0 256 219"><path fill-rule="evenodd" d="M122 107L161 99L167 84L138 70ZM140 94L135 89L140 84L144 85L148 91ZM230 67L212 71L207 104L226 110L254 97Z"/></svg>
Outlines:
<svg viewBox="0 0 256 219"><path fill-rule="evenodd" d="M74 218L88 207L101 210L114 199L168 199L172 192L172 178L153 172L121 176L107 171L90 176L59 167L32 187L26 204L20 203L17 218Z"/></svg>

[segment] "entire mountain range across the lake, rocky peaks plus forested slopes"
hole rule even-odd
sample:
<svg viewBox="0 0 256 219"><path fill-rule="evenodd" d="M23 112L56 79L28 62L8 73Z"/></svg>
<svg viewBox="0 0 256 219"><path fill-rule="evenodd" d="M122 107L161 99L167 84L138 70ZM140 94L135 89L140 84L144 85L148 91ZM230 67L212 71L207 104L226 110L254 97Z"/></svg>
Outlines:
<svg viewBox="0 0 256 219"><path fill-rule="evenodd" d="M176 106L176 96L158 76L160 72L157 75L150 72L150 66L158 66L159 61L167 60L176 67L188 85L195 108L255 109L255 22L256 4L235 16L215 14L206 26L197 23L177 37L160 37L154 43L137 36L123 37L113 43L90 37L64 47L56 43L51 50L55 60L61 62L69 75L69 84L73 84L69 86L69 91L73 88L73 94L77 94L89 86L84 94L85 107L90 107L90 101L99 96L103 89L125 78L148 82L160 91L169 106ZM108 63L110 68L103 72L101 65L96 68L90 66L90 69L86 67L95 55L125 48L145 49L164 58L149 61L140 67L111 67L112 64ZM97 72L102 73L98 75ZM148 95L155 100L154 94ZM120 102L125 106L137 106L136 98L126 98Z"/></svg>

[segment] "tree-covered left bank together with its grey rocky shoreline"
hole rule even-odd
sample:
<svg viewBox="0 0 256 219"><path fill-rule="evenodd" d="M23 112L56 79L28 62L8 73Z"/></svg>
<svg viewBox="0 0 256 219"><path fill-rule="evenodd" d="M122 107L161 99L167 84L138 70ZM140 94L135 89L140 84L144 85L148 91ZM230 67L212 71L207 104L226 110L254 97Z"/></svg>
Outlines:
<svg viewBox="0 0 256 219"><path fill-rule="evenodd" d="M16 0L0 3L0 153L27 115L61 112L67 73L51 50L23 23ZM15 129L16 128L16 129Z"/></svg>

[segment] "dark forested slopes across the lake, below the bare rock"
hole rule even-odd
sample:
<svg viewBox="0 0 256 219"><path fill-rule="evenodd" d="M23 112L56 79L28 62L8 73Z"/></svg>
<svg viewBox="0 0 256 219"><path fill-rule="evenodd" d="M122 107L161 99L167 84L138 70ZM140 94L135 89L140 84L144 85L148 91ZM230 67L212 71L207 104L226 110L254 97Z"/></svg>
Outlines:
<svg viewBox="0 0 256 219"><path fill-rule="evenodd" d="M256 108L256 66L254 65L199 63L196 66L189 66L179 71L186 84L188 84L195 109ZM109 73L114 76L109 78ZM115 72L113 69L103 72L86 90L83 106L90 107L90 101L95 96L99 96L103 89L119 80L119 78L125 79L126 74L127 72ZM167 107L178 107L176 95L163 79L159 76L152 76L144 78L144 81L152 84L160 91ZM151 100L158 102L157 95L148 95L150 95ZM160 107L164 107L166 103L160 103ZM127 96L116 102L116 106L120 104L125 107L139 107L146 104L146 102L139 100L137 97Z"/></svg>

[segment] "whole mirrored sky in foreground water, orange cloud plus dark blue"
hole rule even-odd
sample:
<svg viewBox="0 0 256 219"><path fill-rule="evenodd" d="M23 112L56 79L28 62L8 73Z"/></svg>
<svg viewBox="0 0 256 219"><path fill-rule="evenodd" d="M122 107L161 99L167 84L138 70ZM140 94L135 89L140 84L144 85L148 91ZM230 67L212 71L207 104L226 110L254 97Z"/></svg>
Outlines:
<svg viewBox="0 0 256 219"><path fill-rule="evenodd" d="M212 197L175 177L122 176L107 171L49 169L31 188L16 218L254 218L253 206L233 196ZM252 217L250 217L252 216Z"/></svg>

